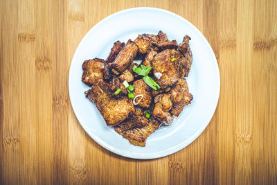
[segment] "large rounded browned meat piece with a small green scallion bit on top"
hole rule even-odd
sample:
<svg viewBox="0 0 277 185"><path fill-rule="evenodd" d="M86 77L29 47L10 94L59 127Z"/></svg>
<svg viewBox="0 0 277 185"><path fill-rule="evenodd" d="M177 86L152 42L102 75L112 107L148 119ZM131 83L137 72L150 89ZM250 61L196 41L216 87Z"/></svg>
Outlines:
<svg viewBox="0 0 277 185"><path fill-rule="evenodd" d="M162 89L175 85L179 78L179 71L175 68L172 58L177 57L175 49L166 49L157 53L151 61L153 73L161 73L161 78L154 77Z"/></svg>

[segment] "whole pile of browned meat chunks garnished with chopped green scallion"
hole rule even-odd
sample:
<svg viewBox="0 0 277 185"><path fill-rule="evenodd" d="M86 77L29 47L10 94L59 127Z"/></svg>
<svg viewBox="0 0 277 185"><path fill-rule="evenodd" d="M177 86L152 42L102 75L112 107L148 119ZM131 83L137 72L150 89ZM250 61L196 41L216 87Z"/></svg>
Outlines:
<svg viewBox="0 0 277 185"><path fill-rule="evenodd" d="M178 45L162 31L144 33L126 44L114 42L106 60L83 62L82 82L91 87L86 97L133 145L145 146L150 134L170 125L193 100L185 79L193 59L189 41L186 35Z"/></svg>

